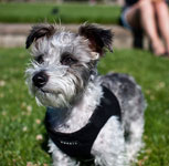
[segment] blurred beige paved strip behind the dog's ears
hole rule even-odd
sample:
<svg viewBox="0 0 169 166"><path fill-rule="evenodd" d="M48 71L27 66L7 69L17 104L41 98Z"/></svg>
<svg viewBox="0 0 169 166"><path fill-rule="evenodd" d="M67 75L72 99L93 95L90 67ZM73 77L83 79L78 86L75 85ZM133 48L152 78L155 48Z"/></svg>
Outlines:
<svg viewBox="0 0 169 166"><path fill-rule="evenodd" d="M33 24L28 23L0 23L0 48L24 48L25 39ZM62 24L65 29L77 32L80 24ZM113 46L116 49L131 48L133 35L130 31L114 24L104 24L103 28L110 29L114 33Z"/></svg>

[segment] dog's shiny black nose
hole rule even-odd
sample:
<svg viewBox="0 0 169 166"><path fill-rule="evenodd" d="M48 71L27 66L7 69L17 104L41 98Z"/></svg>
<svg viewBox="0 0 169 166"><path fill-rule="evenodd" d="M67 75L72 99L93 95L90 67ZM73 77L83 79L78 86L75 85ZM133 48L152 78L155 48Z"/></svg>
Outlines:
<svg viewBox="0 0 169 166"><path fill-rule="evenodd" d="M49 80L49 76L46 75L44 71L36 73L32 79L34 86L36 87L44 86L47 80Z"/></svg>

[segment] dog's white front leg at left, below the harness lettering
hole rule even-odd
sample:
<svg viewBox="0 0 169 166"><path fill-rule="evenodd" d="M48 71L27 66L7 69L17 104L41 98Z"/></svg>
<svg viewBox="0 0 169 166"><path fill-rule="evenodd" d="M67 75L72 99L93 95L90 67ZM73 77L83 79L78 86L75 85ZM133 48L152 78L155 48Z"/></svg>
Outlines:
<svg viewBox="0 0 169 166"><path fill-rule="evenodd" d="M50 153L52 153L53 166L80 166L80 163L62 153L52 141L49 142L49 146Z"/></svg>

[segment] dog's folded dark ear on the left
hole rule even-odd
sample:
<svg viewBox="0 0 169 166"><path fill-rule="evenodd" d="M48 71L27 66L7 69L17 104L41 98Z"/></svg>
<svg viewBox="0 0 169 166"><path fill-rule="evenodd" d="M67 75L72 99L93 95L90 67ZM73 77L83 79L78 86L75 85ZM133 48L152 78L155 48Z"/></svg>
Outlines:
<svg viewBox="0 0 169 166"><path fill-rule="evenodd" d="M50 24L38 24L32 27L30 34L27 38L25 48L29 49L33 41L42 38L47 37L50 38L55 32L53 25Z"/></svg>

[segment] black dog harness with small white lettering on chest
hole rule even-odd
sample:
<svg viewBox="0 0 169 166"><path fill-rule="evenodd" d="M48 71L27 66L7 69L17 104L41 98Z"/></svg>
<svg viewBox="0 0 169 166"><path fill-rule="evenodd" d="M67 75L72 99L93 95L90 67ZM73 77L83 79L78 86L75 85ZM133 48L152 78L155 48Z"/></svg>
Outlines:
<svg viewBox="0 0 169 166"><path fill-rule="evenodd" d="M120 107L116 96L105 86L101 104L96 107L88 123L77 132L60 133L54 131L53 122L49 111L45 116L45 125L49 136L54 144L71 157L78 159L91 159L91 148L110 116L117 116L120 121Z"/></svg>

